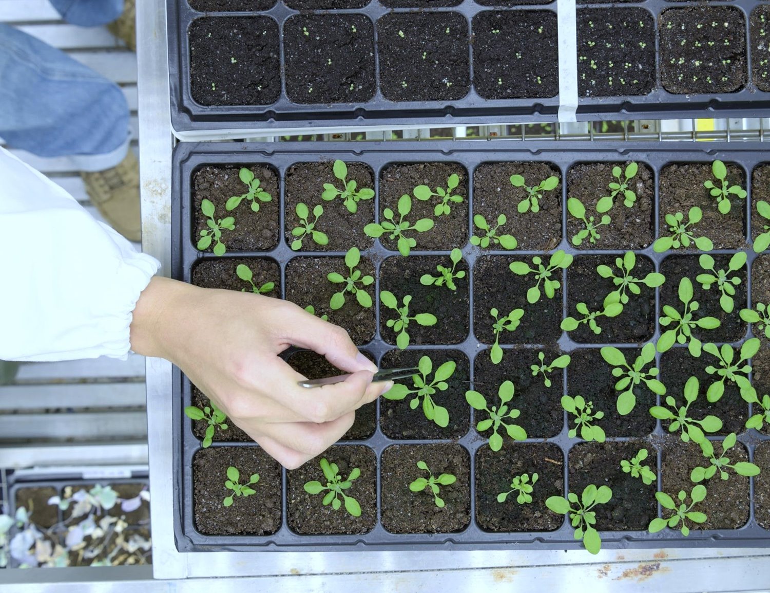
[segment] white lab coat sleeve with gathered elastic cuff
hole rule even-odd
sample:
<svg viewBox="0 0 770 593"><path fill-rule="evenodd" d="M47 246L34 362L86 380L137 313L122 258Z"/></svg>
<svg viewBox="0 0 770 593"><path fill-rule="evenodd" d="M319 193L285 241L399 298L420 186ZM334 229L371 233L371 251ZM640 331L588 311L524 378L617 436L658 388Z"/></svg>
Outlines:
<svg viewBox="0 0 770 593"><path fill-rule="evenodd" d="M0 148L0 360L125 359L159 262Z"/></svg>

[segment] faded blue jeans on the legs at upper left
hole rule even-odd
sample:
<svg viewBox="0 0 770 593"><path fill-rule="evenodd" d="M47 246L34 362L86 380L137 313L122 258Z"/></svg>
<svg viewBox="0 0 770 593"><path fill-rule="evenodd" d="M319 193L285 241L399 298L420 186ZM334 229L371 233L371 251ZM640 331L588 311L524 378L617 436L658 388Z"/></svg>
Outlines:
<svg viewBox="0 0 770 593"><path fill-rule="evenodd" d="M93 26L117 19L123 0L51 3L68 22ZM62 157L104 155L127 146L129 106L117 85L2 23L0 80L0 137L11 147Z"/></svg>

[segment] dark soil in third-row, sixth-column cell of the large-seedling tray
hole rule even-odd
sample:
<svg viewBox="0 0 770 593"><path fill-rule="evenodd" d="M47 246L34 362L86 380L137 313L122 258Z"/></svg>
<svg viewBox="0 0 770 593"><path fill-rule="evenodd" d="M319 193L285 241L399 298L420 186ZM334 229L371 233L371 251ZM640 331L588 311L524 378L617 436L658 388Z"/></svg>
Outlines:
<svg viewBox="0 0 770 593"><path fill-rule="evenodd" d="M699 359L693 358L686 347L672 348L664 352L661 355L660 379L666 386L666 396L672 396L676 400L677 407L685 406L685 383L690 377L698 377L698 399L688 408L688 418L701 420L711 414L722 421L722 429L715 434L740 434L744 432L748 419L748 403L741 399L740 389L731 381L725 381L725 393L718 402L708 403L706 391L708 386L718 378L716 374L709 375L705 372L708 365L718 365L717 359L708 352L701 352ZM661 406L666 406L665 396L661 398ZM668 430L670 422L664 420L661 425L663 430ZM681 428L676 432L676 434L679 433Z"/></svg>

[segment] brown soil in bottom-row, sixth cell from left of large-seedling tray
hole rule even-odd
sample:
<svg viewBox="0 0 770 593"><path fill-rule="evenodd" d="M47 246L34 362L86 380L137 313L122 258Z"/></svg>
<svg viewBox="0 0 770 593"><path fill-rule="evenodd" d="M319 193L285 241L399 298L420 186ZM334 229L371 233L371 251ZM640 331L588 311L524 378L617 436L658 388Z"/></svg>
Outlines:
<svg viewBox="0 0 770 593"><path fill-rule="evenodd" d="M721 441L711 441L714 445L714 453L721 453ZM728 451L727 457L730 463L748 461L748 453L745 446L737 443ZM661 476L663 477L663 491L671 496L678 504L677 494L685 490L687 498L685 503L689 506L692 502L690 493L695 483L690 480L690 473L695 467L708 467L710 462L703 457L701 447L697 443L682 443L675 437L669 437L663 445L661 457ZM701 529L737 529L748 521L748 477L738 476L732 470L728 470L729 479L721 480L719 470L711 480L701 482L706 487L705 500L695 504L692 510L705 513L708 520L701 525L688 521L688 527L692 531ZM671 511L663 509L663 518L671 517Z"/></svg>

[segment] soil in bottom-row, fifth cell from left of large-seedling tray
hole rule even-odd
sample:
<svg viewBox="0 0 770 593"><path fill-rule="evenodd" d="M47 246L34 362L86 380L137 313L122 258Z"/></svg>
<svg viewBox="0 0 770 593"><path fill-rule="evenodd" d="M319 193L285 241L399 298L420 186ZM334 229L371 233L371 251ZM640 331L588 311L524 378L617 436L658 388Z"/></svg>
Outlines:
<svg viewBox="0 0 770 593"><path fill-rule="evenodd" d="M657 453L646 440L627 443L578 443L570 450L569 490L580 496L588 484L608 486L612 498L606 504L598 504L596 528L599 531L647 530L650 521L658 516L655 500L656 483L645 484L641 477L624 473L621 460L631 460L640 449L648 450L643 464L657 473Z"/></svg>

